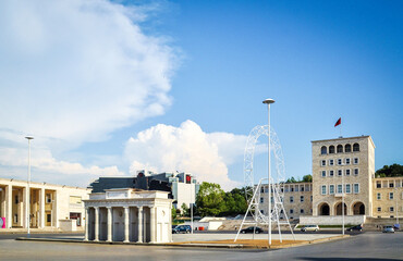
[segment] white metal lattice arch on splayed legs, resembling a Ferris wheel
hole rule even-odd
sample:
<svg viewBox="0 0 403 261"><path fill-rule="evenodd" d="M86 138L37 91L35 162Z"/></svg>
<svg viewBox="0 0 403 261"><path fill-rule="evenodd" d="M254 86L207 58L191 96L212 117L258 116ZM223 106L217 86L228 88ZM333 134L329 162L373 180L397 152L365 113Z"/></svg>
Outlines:
<svg viewBox="0 0 403 261"><path fill-rule="evenodd" d="M260 178L258 184L255 185L255 178L254 178L254 156L255 156L255 147L257 139L261 136L271 136L270 137L270 148L274 154L276 159L276 174L271 175L271 191L272 191L272 211L271 214L269 213L270 211L268 208L265 210L259 206L259 199L260 199L260 192L262 189L262 183L267 182L268 178ZM245 175L245 190L246 190L246 199L248 202L248 209L245 213L245 216L242 221L242 224L240 226L240 229L236 234L235 241L240 235L240 232L244 225L258 225L258 224L269 224L269 219L273 221L279 229L279 235L280 235L280 241L282 241L281 237L281 229L280 225L286 224L289 225L291 233L294 237L292 227L290 225L286 211L284 210L283 206L283 198L284 198L284 189L283 189L283 184L285 182L285 167L284 167L284 159L281 150L281 145L280 140L277 137L276 132L270 128L268 125L264 126L256 126L254 127L246 141L246 147L245 147L245 153L244 153L244 175ZM269 189L269 188L268 188ZM268 199L270 200L270 199ZM248 213L252 214L253 221L247 221L247 215ZM280 219L280 214L284 215L283 221ZM295 237L294 237L295 239Z"/></svg>

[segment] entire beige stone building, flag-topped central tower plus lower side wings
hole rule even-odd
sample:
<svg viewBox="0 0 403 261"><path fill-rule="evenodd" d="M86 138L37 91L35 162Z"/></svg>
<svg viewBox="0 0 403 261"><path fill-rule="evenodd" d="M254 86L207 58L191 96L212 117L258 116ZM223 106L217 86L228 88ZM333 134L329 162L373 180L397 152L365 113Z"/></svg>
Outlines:
<svg viewBox="0 0 403 261"><path fill-rule="evenodd" d="M403 216L403 176L375 177L375 145L370 136L314 140L312 159L312 183L289 183L282 187L290 220L303 217L308 223L338 224L343 212L351 223L364 223L366 217ZM262 185L259 207L264 212L267 191L267 185Z"/></svg>

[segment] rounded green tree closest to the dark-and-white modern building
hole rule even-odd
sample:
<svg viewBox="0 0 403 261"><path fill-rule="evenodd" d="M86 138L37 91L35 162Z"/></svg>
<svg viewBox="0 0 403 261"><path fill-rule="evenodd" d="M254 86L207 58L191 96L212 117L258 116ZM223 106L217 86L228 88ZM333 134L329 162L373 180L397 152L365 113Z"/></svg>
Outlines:
<svg viewBox="0 0 403 261"><path fill-rule="evenodd" d="M219 215L224 210L225 192L219 184L202 183L196 197L196 213L202 216Z"/></svg>

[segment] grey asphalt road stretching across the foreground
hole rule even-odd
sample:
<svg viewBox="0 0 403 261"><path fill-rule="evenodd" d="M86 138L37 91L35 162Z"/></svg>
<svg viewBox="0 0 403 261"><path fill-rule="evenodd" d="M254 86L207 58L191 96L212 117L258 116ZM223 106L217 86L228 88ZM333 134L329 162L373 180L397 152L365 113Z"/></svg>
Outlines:
<svg viewBox="0 0 403 261"><path fill-rule="evenodd" d="M74 234L76 236L76 234ZM5 236L5 235L2 235ZM1 260L402 260L403 233L367 232L347 239L280 250L0 241Z"/></svg>

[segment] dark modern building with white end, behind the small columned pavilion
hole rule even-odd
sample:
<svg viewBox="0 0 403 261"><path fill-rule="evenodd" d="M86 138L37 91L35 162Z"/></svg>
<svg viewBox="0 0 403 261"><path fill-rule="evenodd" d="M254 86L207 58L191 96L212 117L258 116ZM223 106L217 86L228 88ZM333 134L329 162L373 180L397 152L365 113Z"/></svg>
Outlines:
<svg viewBox="0 0 403 261"><path fill-rule="evenodd" d="M135 177L99 177L88 188L93 192L105 192L112 188L137 188L144 190L168 191L173 206L179 209L185 203L190 207L196 202L199 184L190 173L163 172L156 174L149 171L137 171Z"/></svg>

